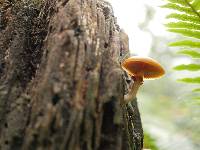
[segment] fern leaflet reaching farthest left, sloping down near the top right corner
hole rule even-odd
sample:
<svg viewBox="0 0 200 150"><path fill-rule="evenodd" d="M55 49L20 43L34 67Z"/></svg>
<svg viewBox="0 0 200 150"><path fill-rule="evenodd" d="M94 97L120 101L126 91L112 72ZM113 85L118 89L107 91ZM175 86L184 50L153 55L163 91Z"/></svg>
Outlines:
<svg viewBox="0 0 200 150"><path fill-rule="evenodd" d="M166 5L161 6L161 8L173 9L173 10L176 10L176 11L179 11L179 12L184 12L186 14L196 16L196 13L193 10L191 10L190 7L183 7L183 6L179 6L177 4L174 4L174 3L168 3Z"/></svg>

